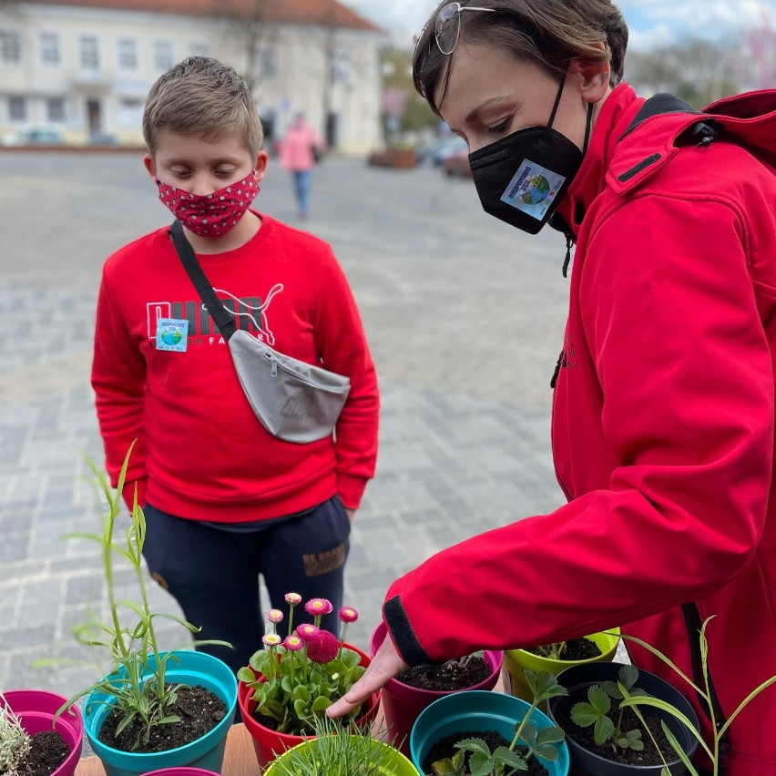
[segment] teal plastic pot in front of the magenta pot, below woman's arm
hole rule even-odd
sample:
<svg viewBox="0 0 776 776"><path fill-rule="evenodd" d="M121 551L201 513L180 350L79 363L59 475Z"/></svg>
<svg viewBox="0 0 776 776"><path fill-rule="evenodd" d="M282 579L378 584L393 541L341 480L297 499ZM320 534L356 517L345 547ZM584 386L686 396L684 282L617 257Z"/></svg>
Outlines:
<svg viewBox="0 0 776 776"><path fill-rule="evenodd" d="M410 753L418 771L423 773L423 761L436 741L470 731L495 730L506 740L515 737L516 722L522 720L531 704L503 692L472 689L455 692L434 700L418 716L410 733ZM545 713L535 709L531 721L537 730L550 727L554 722ZM549 776L567 776L568 748L566 741L557 746L555 762L542 760Z"/></svg>

